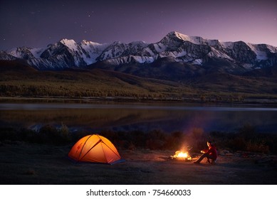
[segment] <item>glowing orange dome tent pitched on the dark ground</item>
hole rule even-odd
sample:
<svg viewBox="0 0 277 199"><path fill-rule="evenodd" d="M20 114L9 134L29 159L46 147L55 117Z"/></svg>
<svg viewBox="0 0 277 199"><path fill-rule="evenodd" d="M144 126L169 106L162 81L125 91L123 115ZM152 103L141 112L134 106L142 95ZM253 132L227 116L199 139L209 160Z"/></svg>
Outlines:
<svg viewBox="0 0 277 199"><path fill-rule="evenodd" d="M78 162L114 164L124 161L110 140L98 134L84 136L79 139L68 156Z"/></svg>

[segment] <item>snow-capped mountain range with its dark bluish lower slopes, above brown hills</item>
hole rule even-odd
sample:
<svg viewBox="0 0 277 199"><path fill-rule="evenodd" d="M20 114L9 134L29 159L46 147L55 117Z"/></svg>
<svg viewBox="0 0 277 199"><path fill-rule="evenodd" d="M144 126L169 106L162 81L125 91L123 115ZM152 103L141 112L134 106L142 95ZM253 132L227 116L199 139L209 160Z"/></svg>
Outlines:
<svg viewBox="0 0 277 199"><path fill-rule="evenodd" d="M218 75L276 75L277 47L243 41L221 42L170 32L157 43L100 44L62 39L47 48L0 51L0 60L16 60L36 70L105 69L174 82Z"/></svg>

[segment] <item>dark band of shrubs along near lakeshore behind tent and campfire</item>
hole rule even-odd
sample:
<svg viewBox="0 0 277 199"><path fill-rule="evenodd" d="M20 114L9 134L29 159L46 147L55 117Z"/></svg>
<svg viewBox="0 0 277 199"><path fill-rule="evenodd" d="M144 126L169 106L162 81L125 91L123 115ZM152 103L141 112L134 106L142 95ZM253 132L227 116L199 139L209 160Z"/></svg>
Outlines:
<svg viewBox="0 0 277 199"><path fill-rule="evenodd" d="M38 144L73 144L90 131L70 132L66 125L60 128L46 125L39 131L31 129L1 128L0 141L26 141ZM151 150L179 150L182 147L192 148L199 152L207 147L207 140L216 143L218 149L230 151L253 151L277 154L277 135L257 133L254 127L245 125L236 132L211 131L205 133L203 129L193 129L189 133L174 131L167 133L161 130L144 131L111 131L99 133L109 139L118 149L151 149Z"/></svg>

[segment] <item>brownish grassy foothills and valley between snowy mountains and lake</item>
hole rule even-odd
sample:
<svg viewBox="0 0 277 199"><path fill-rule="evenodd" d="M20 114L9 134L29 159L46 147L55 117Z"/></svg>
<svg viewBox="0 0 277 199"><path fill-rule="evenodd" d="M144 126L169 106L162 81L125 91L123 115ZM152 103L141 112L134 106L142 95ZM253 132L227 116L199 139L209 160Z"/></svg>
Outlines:
<svg viewBox="0 0 277 199"><path fill-rule="evenodd" d="M277 80L274 77L210 73L181 81L162 80L100 68L40 71L29 65L3 60L0 61L0 71L1 97L182 102L263 100L266 103L277 100L277 91L274 90Z"/></svg>

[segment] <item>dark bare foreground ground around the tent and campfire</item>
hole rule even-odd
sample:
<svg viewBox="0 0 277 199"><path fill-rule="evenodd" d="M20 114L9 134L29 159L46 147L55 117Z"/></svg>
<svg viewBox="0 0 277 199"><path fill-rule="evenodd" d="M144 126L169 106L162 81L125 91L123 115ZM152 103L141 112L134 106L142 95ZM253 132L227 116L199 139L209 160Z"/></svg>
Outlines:
<svg viewBox="0 0 277 199"><path fill-rule="evenodd" d="M176 161L174 151L123 150L125 163L73 163L69 145L0 143L0 184L276 184L276 156L219 151L215 165ZM192 154L192 160L199 154Z"/></svg>

